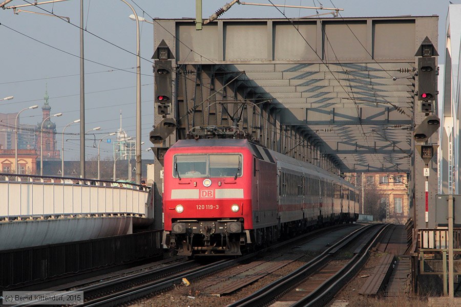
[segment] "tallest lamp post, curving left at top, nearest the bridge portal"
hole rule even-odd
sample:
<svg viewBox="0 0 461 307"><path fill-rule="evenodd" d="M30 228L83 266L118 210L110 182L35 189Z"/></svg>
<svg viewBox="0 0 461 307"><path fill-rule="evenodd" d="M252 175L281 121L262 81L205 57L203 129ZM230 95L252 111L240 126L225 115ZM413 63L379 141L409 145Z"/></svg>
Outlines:
<svg viewBox="0 0 461 307"><path fill-rule="evenodd" d="M127 1L121 1L130 7L136 20L136 184L141 184L141 48L139 42L139 17Z"/></svg>

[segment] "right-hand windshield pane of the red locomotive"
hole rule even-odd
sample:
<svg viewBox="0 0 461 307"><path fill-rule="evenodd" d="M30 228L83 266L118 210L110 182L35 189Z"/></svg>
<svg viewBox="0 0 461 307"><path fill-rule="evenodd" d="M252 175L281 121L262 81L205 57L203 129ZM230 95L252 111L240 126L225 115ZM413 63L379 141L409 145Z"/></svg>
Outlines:
<svg viewBox="0 0 461 307"><path fill-rule="evenodd" d="M238 153L224 155L209 155L210 177L241 177L242 156Z"/></svg>

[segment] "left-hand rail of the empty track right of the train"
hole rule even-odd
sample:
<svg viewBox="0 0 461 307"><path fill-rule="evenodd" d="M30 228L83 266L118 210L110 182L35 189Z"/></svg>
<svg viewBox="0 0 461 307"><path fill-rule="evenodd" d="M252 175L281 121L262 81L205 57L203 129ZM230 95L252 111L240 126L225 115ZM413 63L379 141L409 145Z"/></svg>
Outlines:
<svg viewBox="0 0 461 307"><path fill-rule="evenodd" d="M296 284L302 282L307 276L313 274L315 271L323 267L330 260L330 257L334 253L336 253L341 247L344 247L347 243L351 242L351 240L353 240L354 238L360 236L366 230L372 229L376 226L378 226L378 224L365 226L355 230L348 236L341 239L336 244L332 245L331 247L323 251L320 255L307 262L307 264L298 268L296 271L293 271L288 275L279 278L278 280L272 283L269 283L267 286L261 288L253 294L250 294L249 296L235 301L234 303L229 304L226 307L263 306L271 301L274 301L277 297L280 297L286 291L289 291L289 289L295 287Z"/></svg>

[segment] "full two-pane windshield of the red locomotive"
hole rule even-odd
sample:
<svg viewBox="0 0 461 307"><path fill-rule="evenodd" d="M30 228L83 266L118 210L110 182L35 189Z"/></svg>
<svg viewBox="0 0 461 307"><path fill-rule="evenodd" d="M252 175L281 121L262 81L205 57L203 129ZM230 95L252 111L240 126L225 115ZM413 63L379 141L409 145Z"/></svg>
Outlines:
<svg viewBox="0 0 461 307"><path fill-rule="evenodd" d="M173 177L241 177L242 155L238 153L175 155Z"/></svg>

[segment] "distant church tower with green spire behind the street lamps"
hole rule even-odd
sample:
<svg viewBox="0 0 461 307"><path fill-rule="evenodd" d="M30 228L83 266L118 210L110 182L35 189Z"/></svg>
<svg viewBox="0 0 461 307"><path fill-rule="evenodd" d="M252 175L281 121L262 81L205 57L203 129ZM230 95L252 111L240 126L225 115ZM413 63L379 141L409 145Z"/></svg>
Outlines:
<svg viewBox="0 0 461 307"><path fill-rule="evenodd" d="M45 91L45 103L41 107L43 117L36 127L37 152L40 152L41 146L41 127L43 124L43 160L60 161L59 150L56 150L56 124L50 120L51 106L48 104L48 89ZM39 160L38 157L37 160Z"/></svg>

